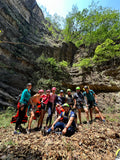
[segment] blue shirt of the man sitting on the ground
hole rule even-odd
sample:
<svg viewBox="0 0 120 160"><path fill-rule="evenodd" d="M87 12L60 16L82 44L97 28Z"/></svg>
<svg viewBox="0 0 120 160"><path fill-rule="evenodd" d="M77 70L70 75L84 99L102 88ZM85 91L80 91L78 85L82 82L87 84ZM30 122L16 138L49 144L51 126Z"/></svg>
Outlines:
<svg viewBox="0 0 120 160"><path fill-rule="evenodd" d="M73 112L73 111L69 111L68 113L65 113L65 112L62 112L61 114L60 114L60 117L61 118L63 118L63 122L65 123L65 124L67 124L68 123L68 121L69 121L69 119L70 119L70 117L74 117L75 118L75 113ZM75 124L75 121L73 120L73 122L72 122L72 124L71 124L73 127L76 127L76 124Z"/></svg>

